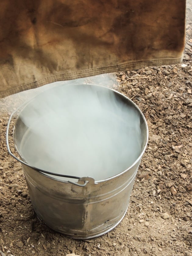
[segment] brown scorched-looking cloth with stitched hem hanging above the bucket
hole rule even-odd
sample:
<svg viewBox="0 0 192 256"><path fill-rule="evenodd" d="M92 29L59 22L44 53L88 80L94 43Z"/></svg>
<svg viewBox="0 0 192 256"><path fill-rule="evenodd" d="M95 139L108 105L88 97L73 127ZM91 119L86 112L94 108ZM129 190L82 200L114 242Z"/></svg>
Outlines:
<svg viewBox="0 0 192 256"><path fill-rule="evenodd" d="M1 0L0 98L182 60L185 0Z"/></svg>

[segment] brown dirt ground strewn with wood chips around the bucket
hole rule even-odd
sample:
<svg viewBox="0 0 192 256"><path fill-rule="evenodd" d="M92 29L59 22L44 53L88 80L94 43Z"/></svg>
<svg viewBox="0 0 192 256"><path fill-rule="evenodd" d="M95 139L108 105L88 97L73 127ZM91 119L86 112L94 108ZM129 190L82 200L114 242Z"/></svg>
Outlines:
<svg viewBox="0 0 192 256"><path fill-rule="evenodd" d="M119 87L144 113L149 142L122 222L90 240L73 240L37 219L5 130L29 94L0 101L0 255L192 255L192 6L183 63L118 73ZM15 100L16 99L16 100Z"/></svg>

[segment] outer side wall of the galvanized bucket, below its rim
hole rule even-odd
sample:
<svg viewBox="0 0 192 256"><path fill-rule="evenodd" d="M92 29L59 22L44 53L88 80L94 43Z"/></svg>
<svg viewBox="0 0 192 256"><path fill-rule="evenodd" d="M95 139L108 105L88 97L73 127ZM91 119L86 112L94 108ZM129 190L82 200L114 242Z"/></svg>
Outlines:
<svg viewBox="0 0 192 256"><path fill-rule="evenodd" d="M27 186L38 217L50 228L75 239L107 233L123 219L138 169L98 184L91 178L85 187L64 183L23 165ZM32 175L33 173L33 175Z"/></svg>

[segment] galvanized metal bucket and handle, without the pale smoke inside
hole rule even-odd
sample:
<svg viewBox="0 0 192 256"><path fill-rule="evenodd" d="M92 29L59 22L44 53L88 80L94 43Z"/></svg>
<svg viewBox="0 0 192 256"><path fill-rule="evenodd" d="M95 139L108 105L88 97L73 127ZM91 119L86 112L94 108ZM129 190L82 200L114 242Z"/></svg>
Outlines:
<svg viewBox="0 0 192 256"><path fill-rule="evenodd" d="M12 113L7 126L6 142L9 154L22 164L31 202L39 219L55 231L74 239L88 239L112 230L125 216L140 160L147 146L148 126L137 105L123 94L97 85L73 84L73 86L82 88L89 86L92 91L97 92L97 95L106 93L114 95L119 102L123 102L125 108L134 108L139 114L142 143L139 157L132 165L121 172L117 170L116 175L95 181L91 177L91 170L90 177L78 177L55 174L27 163L22 157L21 141L24 136L30 136L30 130L20 116L21 113L31 113L32 103L37 100L42 101L46 91ZM18 111L13 139L20 159L10 151L8 140L10 121ZM68 177L70 180L61 180L60 177ZM77 179L77 182L72 179Z"/></svg>

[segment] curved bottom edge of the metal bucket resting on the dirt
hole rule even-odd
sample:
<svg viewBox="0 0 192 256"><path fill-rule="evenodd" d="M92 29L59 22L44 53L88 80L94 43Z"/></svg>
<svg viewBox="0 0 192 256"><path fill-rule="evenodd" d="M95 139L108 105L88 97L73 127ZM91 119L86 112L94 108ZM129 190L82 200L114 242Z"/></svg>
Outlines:
<svg viewBox="0 0 192 256"><path fill-rule="evenodd" d="M84 239L91 239L91 238L95 238L95 237L98 237L98 236L102 236L102 235L105 235L106 233L108 233L109 231L111 231L112 229L114 229L122 220L123 218L125 217L126 215L126 212L127 212L127 209L128 207L126 208L126 211L123 213L123 216L115 223L113 224L112 226L108 226L106 229L104 230L100 230L100 232L91 232L90 230L87 231L87 233L91 233L90 235L82 235L82 234L76 234L76 233L66 233L66 232L62 232L61 230L56 230L52 227L50 227L49 225L47 225L46 222L44 222L38 215L37 215L37 218L44 222L49 228L51 228L52 230L54 230L55 232L59 232L61 234L64 234L65 236L68 236L70 238L73 238L73 239L78 239L78 240L84 240ZM37 213L36 213L37 214ZM114 223L114 220L112 220L112 222ZM75 230L74 230L75 231ZM102 232L101 232L102 231ZM86 233L86 232L84 232Z"/></svg>

